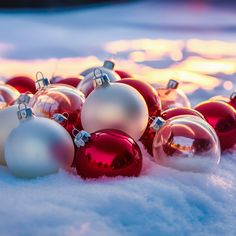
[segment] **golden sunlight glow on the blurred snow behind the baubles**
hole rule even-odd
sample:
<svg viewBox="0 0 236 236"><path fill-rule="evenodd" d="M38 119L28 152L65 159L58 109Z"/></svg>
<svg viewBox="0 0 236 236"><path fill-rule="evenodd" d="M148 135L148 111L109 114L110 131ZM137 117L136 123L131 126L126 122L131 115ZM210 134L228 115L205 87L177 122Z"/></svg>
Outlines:
<svg viewBox="0 0 236 236"><path fill-rule="evenodd" d="M234 89L233 82L222 83L216 75L236 74L236 42L135 39L109 42L104 45L104 49L108 53L116 54L117 69L127 71L137 79L152 84L165 86L169 79L174 78L188 94L199 88L212 90L221 84L226 90ZM0 43L0 52L4 50L12 48ZM119 53L126 59L120 59ZM199 55L189 56L193 53ZM52 75L76 76L88 67L102 64L102 60L95 56L60 60L0 59L0 76L25 74L34 78L37 71L42 71L48 78Z"/></svg>

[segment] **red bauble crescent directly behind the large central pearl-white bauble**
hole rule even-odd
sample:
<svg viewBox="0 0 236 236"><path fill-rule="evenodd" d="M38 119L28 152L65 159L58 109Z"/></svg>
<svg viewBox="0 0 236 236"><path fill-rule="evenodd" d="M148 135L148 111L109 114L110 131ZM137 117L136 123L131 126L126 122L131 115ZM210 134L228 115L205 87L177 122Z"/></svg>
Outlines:
<svg viewBox="0 0 236 236"><path fill-rule="evenodd" d="M146 82L136 79L122 79L118 83L127 84L139 91L143 96L149 116L159 116L161 113L161 101L155 89Z"/></svg>

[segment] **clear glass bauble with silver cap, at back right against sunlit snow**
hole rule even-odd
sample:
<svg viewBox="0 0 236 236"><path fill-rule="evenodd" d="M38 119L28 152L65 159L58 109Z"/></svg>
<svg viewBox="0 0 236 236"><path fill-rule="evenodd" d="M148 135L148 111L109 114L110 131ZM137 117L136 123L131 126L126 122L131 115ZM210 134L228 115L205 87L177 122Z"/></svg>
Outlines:
<svg viewBox="0 0 236 236"><path fill-rule="evenodd" d="M191 107L190 101L183 91L178 89L178 85L177 81L171 79L166 88L157 88L162 110L172 107Z"/></svg>

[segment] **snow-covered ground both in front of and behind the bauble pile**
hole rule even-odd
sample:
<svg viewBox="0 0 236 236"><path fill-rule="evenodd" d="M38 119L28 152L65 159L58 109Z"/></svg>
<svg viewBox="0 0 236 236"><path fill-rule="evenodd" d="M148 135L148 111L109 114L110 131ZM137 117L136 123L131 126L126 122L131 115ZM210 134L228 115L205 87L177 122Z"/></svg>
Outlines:
<svg viewBox="0 0 236 236"><path fill-rule="evenodd" d="M0 12L0 75L76 75L115 55L150 83L177 77L193 105L236 89L236 14L155 1ZM139 178L84 181L61 171L20 180L0 167L0 235L236 235L236 149L212 174L179 172L144 153Z"/></svg>

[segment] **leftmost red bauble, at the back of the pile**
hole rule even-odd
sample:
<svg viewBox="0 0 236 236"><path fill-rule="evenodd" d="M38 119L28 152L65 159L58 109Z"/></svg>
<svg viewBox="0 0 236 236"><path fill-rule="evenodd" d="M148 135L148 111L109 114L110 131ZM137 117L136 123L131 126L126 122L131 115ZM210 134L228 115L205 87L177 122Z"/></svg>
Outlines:
<svg viewBox="0 0 236 236"><path fill-rule="evenodd" d="M12 77L6 84L16 88L20 93L31 92L34 94L36 92L34 80L27 76Z"/></svg>

